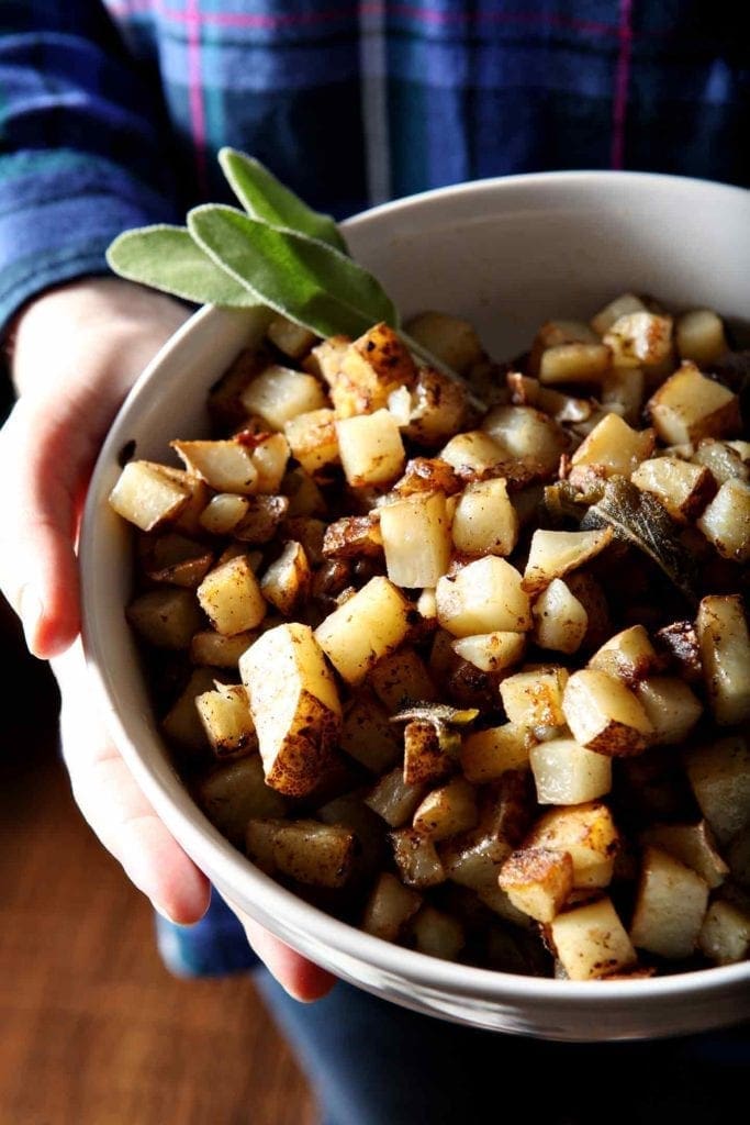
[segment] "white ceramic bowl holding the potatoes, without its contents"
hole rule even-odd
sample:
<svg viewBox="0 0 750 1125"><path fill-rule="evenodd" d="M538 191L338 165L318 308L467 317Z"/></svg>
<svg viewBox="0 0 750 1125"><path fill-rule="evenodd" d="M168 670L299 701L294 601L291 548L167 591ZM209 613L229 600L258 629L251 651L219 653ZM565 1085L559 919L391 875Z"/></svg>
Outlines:
<svg viewBox="0 0 750 1125"><path fill-rule="evenodd" d="M404 315L442 308L477 325L498 358L553 316L586 316L624 289L750 320L750 192L635 173L481 181L378 207L345 224L353 254ZM209 385L257 331L253 313L205 308L156 357L101 451L81 540L84 644L111 735L174 836L218 890L340 976L409 1008L553 1040L696 1032L750 1017L750 963L651 980L539 980L467 968L362 934L277 885L193 804L151 716L123 606L127 529L107 495L118 454L161 458L205 432Z"/></svg>

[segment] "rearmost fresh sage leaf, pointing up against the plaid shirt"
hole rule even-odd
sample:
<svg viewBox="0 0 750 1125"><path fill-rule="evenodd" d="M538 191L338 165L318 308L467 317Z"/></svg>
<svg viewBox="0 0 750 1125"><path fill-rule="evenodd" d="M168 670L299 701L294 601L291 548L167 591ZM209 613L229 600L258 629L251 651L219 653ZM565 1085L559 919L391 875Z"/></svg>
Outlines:
<svg viewBox="0 0 750 1125"><path fill-rule="evenodd" d="M232 190L252 218L307 234L347 253L335 220L308 207L259 160L236 148L225 147L219 150L219 164Z"/></svg>

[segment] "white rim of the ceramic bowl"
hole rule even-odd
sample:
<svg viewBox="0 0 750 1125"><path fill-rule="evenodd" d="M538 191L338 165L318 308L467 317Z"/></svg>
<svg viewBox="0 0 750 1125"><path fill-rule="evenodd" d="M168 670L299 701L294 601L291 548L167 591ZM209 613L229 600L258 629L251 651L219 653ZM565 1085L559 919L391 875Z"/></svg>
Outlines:
<svg viewBox="0 0 750 1125"><path fill-rule="evenodd" d="M603 188L620 190L625 183L635 187L639 192L652 191L653 188L674 191L676 187L688 192L710 191L719 194L728 200L731 198L747 205L750 210L750 191L720 181L659 172L551 171L491 177L428 189L371 207L343 220L342 227L345 232L363 230L370 223L378 222L383 215L406 214L425 204L440 204L448 197L471 199L485 195L501 194L513 188L536 192L549 189L552 184L596 190ZM629 1006L629 1009L640 1010L659 1001L679 998L680 1002L684 1002L690 998L704 996L706 992L729 990L742 983L747 984L750 980L750 962L747 961L663 976L618 979L604 982L570 981L480 969L443 961L415 950L395 945L373 937L358 929L354 925L338 920L263 874L218 832L193 802L186 788L179 790L177 794L170 792L165 776L160 777L159 773L146 764L128 732L127 724L114 706L111 694L114 685L106 672L107 629L102 628L103 622L98 620L90 598L85 596L89 578L96 572L97 506L101 501L102 476L111 466L112 459L117 457L121 447L121 431L134 399L144 387L152 384L168 357L173 358L174 352L189 346L193 333L200 332L201 326L207 321L210 323L210 320L222 312L223 309L217 309L214 306L198 308L153 357L132 387L111 423L97 458L84 504L80 537L82 646L89 682L94 688L99 711L117 748L155 811L179 843L204 868L213 870L215 865L211 857L216 856L222 866L222 876L216 882L226 882L231 885L244 884L250 892L246 896L249 900L253 899L253 891L259 892L256 897L262 902L262 908L259 910L259 915L262 915L260 919L262 925L273 929L273 922L278 917L283 919L292 932L309 935L322 947L344 954L355 962L364 961L380 973L399 979L406 976L409 981L426 989L454 996L481 998L490 1002L526 1004L539 1001L555 1008L578 1010L581 1008L588 1010L594 1002L596 1009L606 1015L609 1010L622 1008L624 1004ZM173 775L178 784L181 785L177 772L173 771ZM289 940L288 934L283 939ZM606 988L593 988L597 984L606 984Z"/></svg>

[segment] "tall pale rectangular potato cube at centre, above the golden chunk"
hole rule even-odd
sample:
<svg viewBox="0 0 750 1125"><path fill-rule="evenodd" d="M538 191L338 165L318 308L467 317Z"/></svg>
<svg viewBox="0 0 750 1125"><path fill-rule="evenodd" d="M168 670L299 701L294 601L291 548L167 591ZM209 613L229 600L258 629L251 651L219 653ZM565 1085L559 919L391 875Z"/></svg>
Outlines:
<svg viewBox="0 0 750 1125"><path fill-rule="evenodd" d="M380 508L388 577L397 586L435 586L451 557L451 529L442 492L415 493Z"/></svg>

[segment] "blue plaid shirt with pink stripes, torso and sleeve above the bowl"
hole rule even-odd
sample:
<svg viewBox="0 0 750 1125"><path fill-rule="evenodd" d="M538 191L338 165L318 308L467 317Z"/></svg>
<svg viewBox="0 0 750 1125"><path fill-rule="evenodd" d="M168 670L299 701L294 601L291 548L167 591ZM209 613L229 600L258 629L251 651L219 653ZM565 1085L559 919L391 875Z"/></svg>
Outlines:
<svg viewBox="0 0 750 1125"><path fill-rule="evenodd" d="M750 183L729 0L2 0L0 325L252 152L337 217L485 176Z"/></svg>

